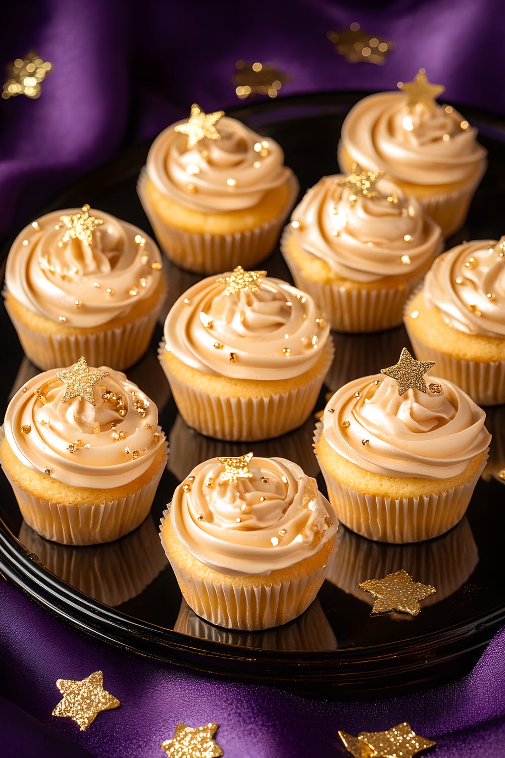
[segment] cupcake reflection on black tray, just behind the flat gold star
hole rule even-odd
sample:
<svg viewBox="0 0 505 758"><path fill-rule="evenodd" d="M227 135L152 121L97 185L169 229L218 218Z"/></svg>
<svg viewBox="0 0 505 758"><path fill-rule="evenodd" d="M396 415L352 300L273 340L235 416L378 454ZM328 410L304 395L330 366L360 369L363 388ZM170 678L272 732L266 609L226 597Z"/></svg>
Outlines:
<svg viewBox="0 0 505 758"><path fill-rule="evenodd" d="M344 527L339 532L340 543L326 579L369 605L374 598L360 589L360 581L379 579L404 568L414 581L432 584L437 590L422 601L426 607L456 592L479 562L466 516L443 537L410 545L372 542Z"/></svg>

